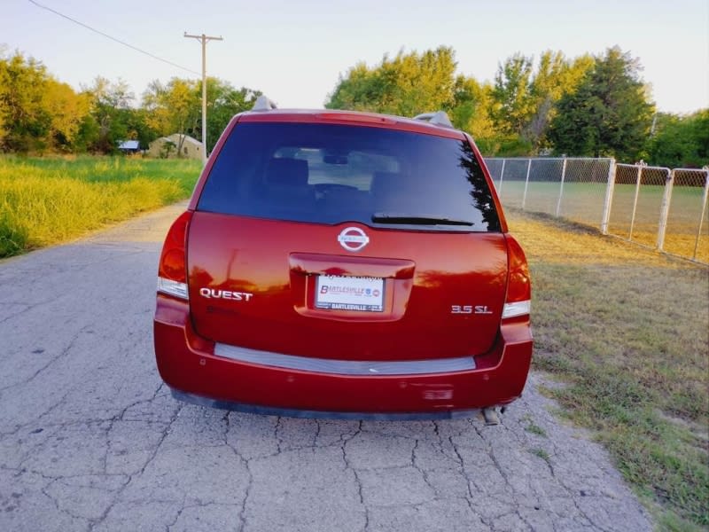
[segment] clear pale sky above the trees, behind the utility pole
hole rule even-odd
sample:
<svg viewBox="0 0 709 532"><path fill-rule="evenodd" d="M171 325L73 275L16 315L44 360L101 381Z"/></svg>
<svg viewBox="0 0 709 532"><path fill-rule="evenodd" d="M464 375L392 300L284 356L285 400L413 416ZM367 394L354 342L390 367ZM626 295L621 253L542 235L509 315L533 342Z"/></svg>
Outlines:
<svg viewBox="0 0 709 532"><path fill-rule="evenodd" d="M22 51L77 89L101 75L128 82L140 98L154 79L199 77L200 46L186 31L224 39L207 44L208 75L262 90L281 107L322 107L339 74L401 49L452 46L458 73L483 82L518 51L573 58L616 44L640 59L660 111L709 107L709 0L35 1L198 73L29 0L0 0L4 53Z"/></svg>

